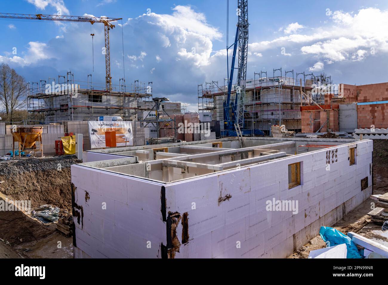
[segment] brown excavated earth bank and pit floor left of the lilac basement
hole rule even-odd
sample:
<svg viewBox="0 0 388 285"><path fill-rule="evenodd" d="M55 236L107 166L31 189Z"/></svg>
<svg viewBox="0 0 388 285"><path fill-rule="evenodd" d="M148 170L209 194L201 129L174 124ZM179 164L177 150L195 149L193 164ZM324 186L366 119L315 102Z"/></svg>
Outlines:
<svg viewBox="0 0 388 285"><path fill-rule="evenodd" d="M71 211L70 166L80 162L74 156L1 162L0 200L31 200L31 210L52 204ZM0 238L4 240L0 255L72 257L72 238L64 237L55 228L55 224L43 225L21 211L0 211ZM59 241L62 248L57 247ZM12 251L5 252L10 247Z"/></svg>

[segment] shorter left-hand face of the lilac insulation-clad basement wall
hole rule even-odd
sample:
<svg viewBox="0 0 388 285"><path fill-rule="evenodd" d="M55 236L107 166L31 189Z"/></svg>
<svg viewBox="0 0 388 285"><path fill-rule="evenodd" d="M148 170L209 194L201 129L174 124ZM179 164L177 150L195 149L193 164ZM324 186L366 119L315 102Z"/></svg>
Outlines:
<svg viewBox="0 0 388 285"><path fill-rule="evenodd" d="M161 183L78 165L71 166L71 180L75 258L161 257Z"/></svg>

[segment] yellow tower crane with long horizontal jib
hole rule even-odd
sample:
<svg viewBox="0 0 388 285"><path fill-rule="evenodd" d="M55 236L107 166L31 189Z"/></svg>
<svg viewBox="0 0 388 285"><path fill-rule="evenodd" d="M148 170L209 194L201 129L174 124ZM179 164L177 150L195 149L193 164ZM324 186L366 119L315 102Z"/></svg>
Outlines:
<svg viewBox="0 0 388 285"><path fill-rule="evenodd" d="M108 18L108 17L88 17L88 16L62 16L62 15L43 15L43 14L10 14L0 13L0 18L6 19L29 19L29 20L44 20L44 21L61 21L61 22L90 22L103 23L105 32L105 68L106 68L106 90L112 90L112 76L111 76L111 54L109 48L109 30L114 28L111 22L121 20L122 18Z"/></svg>

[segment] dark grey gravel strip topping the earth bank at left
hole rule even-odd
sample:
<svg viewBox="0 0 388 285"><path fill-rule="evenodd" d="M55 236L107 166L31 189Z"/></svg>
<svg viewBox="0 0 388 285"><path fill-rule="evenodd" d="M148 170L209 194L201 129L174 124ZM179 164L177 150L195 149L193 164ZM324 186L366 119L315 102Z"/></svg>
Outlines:
<svg viewBox="0 0 388 285"><path fill-rule="evenodd" d="M59 167L69 168L72 164L81 162L75 155L20 160L11 159L0 162L0 176L9 178L12 175L23 172L58 170Z"/></svg>

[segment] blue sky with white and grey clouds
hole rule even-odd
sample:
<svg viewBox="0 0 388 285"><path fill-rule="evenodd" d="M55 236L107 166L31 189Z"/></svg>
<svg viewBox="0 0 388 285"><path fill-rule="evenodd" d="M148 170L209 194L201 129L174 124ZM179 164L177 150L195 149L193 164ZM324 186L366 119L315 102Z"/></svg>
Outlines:
<svg viewBox="0 0 388 285"><path fill-rule="evenodd" d="M197 108L197 84L219 81L226 69L227 0L13 0L2 12L121 17L111 32L113 83L125 77L153 82L155 96ZM236 29L237 0L229 0L229 41ZM335 83L386 82L387 1L249 0L248 78L282 67L295 72L325 72ZM101 24L0 19L0 62L26 81L74 73L74 78L104 82ZM122 47L122 31L124 49ZM92 38L94 37L94 72ZM12 53L16 48L15 52ZM124 62L123 62L124 51Z"/></svg>

